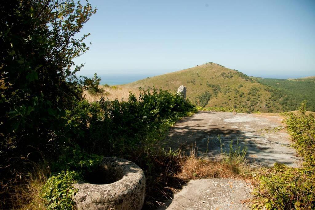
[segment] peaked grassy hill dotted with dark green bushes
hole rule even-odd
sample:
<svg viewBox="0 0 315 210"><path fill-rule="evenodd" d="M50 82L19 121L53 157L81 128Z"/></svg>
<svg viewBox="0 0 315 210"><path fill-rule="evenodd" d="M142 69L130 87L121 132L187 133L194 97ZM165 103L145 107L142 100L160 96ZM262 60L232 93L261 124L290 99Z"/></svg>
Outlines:
<svg viewBox="0 0 315 210"><path fill-rule="evenodd" d="M189 69L148 77L124 85L176 91L187 87L187 98L203 107L245 108L248 112L296 110L301 100L289 92L267 86L240 71L209 62Z"/></svg>

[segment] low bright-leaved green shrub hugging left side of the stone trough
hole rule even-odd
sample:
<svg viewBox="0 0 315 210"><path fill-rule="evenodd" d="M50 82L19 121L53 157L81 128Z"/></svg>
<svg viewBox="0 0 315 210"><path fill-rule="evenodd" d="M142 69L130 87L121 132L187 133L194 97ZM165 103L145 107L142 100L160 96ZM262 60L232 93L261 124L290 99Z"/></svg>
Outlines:
<svg viewBox="0 0 315 210"><path fill-rule="evenodd" d="M84 180L84 175L103 159L103 156L82 152L78 145L64 148L61 154L51 163L53 175L41 191L48 209L72 209L72 198L77 192L73 184Z"/></svg>

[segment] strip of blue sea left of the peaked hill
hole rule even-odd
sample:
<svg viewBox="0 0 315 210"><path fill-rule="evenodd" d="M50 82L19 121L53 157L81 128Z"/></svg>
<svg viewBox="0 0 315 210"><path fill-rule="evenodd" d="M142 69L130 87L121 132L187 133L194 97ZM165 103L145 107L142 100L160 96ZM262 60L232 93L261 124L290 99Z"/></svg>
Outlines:
<svg viewBox="0 0 315 210"><path fill-rule="evenodd" d="M89 78L93 77L93 75L84 75ZM109 85L121 85L127 84L130 82L135 82L140 79L145 79L146 77L153 77L152 74L98 74L98 77L101 78L100 84L109 84Z"/></svg>

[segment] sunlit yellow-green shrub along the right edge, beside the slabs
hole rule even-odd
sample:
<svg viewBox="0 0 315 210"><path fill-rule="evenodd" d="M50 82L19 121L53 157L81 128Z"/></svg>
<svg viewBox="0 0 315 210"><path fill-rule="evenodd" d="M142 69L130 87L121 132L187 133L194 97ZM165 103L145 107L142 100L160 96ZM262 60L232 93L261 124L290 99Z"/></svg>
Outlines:
<svg viewBox="0 0 315 210"><path fill-rule="evenodd" d="M254 208L314 209L315 207L315 119L306 115L306 102L298 114L286 113L284 121L298 154L305 160L302 168L275 164L257 177Z"/></svg>

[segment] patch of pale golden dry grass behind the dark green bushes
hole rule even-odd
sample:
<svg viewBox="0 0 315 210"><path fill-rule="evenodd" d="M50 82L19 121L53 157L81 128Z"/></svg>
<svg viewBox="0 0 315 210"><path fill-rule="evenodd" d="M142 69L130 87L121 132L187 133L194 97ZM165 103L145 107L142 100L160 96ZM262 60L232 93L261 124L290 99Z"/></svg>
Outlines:
<svg viewBox="0 0 315 210"><path fill-rule="evenodd" d="M140 94L140 91L137 88L127 88L122 86L104 87L102 85L100 85L99 87L104 90L103 94L92 95L88 91L84 91L83 95L85 99L87 99L89 102L92 102L98 101L101 97L104 97L105 99L108 98L108 100L110 101L113 101L115 99L128 101L130 92L135 94L136 97L139 97Z"/></svg>

